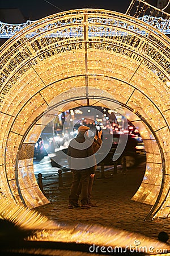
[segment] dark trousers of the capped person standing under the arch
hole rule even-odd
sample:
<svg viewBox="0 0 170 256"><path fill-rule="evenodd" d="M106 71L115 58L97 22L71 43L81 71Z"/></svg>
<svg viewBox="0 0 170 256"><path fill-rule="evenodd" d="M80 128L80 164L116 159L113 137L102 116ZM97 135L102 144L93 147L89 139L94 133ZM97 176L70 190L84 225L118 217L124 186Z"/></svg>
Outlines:
<svg viewBox="0 0 170 256"><path fill-rule="evenodd" d="M81 180L82 183L82 196L81 196L81 204L86 205L88 203L88 184L90 180L90 174L87 171L72 171L73 172L73 180L72 185L70 188L70 195L69 195L69 203L70 204L76 204L78 203L78 195L77 195L77 189Z"/></svg>

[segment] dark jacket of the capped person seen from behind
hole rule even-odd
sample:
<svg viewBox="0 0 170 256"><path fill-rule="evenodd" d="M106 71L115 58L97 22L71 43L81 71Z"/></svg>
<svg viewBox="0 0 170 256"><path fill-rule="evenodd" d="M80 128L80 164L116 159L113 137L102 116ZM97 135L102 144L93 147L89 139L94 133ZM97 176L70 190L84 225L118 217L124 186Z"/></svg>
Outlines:
<svg viewBox="0 0 170 256"><path fill-rule="evenodd" d="M88 170L89 174L95 173L96 159L93 143L90 138L84 138L84 133L79 133L70 141L67 155L71 156L68 158L71 171Z"/></svg>

